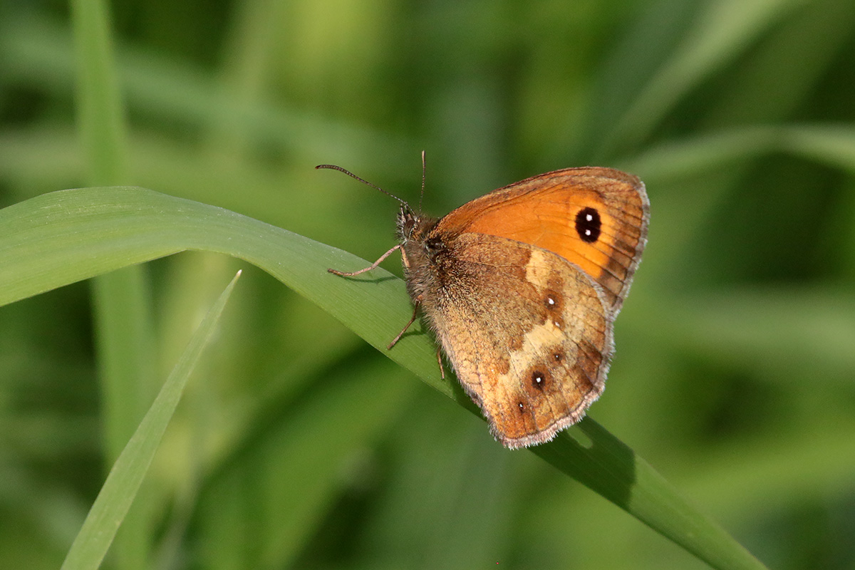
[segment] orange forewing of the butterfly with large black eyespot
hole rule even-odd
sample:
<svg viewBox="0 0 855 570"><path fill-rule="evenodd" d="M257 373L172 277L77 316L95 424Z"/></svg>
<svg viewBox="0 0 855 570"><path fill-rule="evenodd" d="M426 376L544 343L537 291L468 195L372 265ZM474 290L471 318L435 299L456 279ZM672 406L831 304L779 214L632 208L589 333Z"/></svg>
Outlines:
<svg viewBox="0 0 855 570"><path fill-rule="evenodd" d="M499 188L446 215L439 232L473 232L549 250L581 267L620 309L647 237L649 203L636 177L566 168Z"/></svg>

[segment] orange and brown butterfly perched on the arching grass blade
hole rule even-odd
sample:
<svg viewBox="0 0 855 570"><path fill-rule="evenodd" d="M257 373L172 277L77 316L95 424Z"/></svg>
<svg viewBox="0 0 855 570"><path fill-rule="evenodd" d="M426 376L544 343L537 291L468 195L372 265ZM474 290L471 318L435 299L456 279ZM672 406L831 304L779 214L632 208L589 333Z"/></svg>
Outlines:
<svg viewBox="0 0 855 570"><path fill-rule="evenodd" d="M341 167L318 168L371 185ZM581 420L604 390L613 323L647 241L640 179L565 168L440 219L396 199L399 244L360 271L330 269L356 275L401 251L415 311L389 348L421 311L493 437L510 449L550 441Z"/></svg>

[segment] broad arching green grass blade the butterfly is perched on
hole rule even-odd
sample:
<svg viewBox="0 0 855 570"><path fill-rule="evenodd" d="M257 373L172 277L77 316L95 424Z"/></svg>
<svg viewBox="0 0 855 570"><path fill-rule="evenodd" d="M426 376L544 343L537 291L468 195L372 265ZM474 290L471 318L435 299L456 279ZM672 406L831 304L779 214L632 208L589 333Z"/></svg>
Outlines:
<svg viewBox="0 0 855 570"><path fill-rule="evenodd" d="M32 198L0 211L0 304L181 250L210 250L261 267L317 303L392 360L477 414L418 326L385 347L411 309L400 279L377 269L341 279L327 267L366 262L243 215L139 188L89 188ZM763 566L689 505L645 461L592 420L590 447L563 433L534 451L552 465L717 568ZM571 433L576 433L572 431Z"/></svg>

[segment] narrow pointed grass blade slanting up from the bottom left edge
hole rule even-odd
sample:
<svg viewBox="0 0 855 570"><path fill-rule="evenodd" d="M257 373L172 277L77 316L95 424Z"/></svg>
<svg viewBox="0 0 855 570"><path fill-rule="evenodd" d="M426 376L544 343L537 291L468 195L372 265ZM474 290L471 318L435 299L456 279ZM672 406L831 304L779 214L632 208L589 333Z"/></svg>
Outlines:
<svg viewBox="0 0 855 570"><path fill-rule="evenodd" d="M160 444L163 432L166 431L169 420L178 405L187 379L198 362L199 356L202 355L203 349L212 338L217 320L239 276L240 273L235 275L211 307L193 334L184 354L163 383L160 393L140 422L137 431L115 461L95 503L86 516L80 533L68 550L68 555L62 563L62 570L96 568L101 564L115 537L115 532L119 530L122 519L131 508L133 498L136 497L139 485L142 485L145 473L154 459L157 445Z"/></svg>

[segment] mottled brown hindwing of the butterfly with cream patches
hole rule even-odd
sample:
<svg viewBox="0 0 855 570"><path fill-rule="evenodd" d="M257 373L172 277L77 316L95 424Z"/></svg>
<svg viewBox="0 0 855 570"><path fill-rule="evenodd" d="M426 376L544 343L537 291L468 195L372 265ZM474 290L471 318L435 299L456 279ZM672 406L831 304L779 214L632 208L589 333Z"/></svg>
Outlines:
<svg viewBox="0 0 855 570"><path fill-rule="evenodd" d="M436 273L454 279L440 277L422 310L457 378L506 446L548 441L603 391L612 338L601 289L550 251L441 238Z"/></svg>

